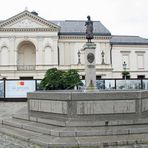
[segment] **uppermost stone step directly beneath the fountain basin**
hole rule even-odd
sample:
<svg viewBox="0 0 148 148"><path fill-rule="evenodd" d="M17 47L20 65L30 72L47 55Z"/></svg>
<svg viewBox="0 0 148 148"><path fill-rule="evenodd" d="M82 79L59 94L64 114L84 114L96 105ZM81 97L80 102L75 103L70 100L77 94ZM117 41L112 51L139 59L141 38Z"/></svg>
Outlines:
<svg viewBox="0 0 148 148"><path fill-rule="evenodd" d="M56 125L60 127L92 127L92 126L122 126L122 125L138 125L138 124L147 124L148 123L148 118L138 118L138 119L129 119L129 120L93 120L92 121L87 121L87 120L64 120L60 118L50 118L50 119L45 119L41 117L33 117L33 116L28 116L28 114L16 114L13 115L13 118L16 119L21 119L21 120L28 120L28 121L36 121L39 123L44 123L44 124L50 124L50 125Z"/></svg>

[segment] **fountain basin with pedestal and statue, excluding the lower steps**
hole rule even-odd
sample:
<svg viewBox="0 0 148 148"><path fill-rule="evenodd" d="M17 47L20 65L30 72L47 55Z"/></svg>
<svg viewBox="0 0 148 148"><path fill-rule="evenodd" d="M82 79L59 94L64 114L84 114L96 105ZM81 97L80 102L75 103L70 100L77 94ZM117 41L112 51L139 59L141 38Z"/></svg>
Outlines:
<svg viewBox="0 0 148 148"><path fill-rule="evenodd" d="M87 18L85 24L87 42L83 47L86 89L82 92L41 91L28 93L29 117L61 118L65 126L97 126L129 124L127 120L133 123L135 119L138 120L147 113L147 91L100 92L96 89L96 44L91 42L93 22L90 16Z"/></svg>

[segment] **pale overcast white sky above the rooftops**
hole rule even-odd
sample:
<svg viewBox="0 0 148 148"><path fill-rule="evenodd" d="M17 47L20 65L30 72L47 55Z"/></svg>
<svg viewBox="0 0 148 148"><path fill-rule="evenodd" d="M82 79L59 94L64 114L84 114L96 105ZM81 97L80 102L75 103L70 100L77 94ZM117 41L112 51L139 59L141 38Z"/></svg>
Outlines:
<svg viewBox="0 0 148 148"><path fill-rule="evenodd" d="M148 38L148 0L1 0L0 20L28 8L47 20L101 21L113 35Z"/></svg>

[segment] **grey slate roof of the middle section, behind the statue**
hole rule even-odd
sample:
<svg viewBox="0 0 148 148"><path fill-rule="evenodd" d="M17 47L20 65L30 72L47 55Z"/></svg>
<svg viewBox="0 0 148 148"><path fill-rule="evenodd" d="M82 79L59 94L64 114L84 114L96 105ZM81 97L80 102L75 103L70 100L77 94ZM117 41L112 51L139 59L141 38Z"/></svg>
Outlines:
<svg viewBox="0 0 148 148"><path fill-rule="evenodd" d="M85 35L86 27L85 21L51 21L61 27L59 32L60 35ZM94 35L105 35L110 36L111 33L100 21L93 22L93 33Z"/></svg>

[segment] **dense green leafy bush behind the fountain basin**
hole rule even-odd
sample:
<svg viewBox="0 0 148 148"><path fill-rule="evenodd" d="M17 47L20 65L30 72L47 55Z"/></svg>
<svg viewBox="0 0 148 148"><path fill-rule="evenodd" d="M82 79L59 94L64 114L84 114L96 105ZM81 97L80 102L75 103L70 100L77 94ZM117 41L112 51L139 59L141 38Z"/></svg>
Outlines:
<svg viewBox="0 0 148 148"><path fill-rule="evenodd" d="M52 68L47 70L40 88L44 90L73 89L78 85L82 85L82 82L76 70L62 71Z"/></svg>

